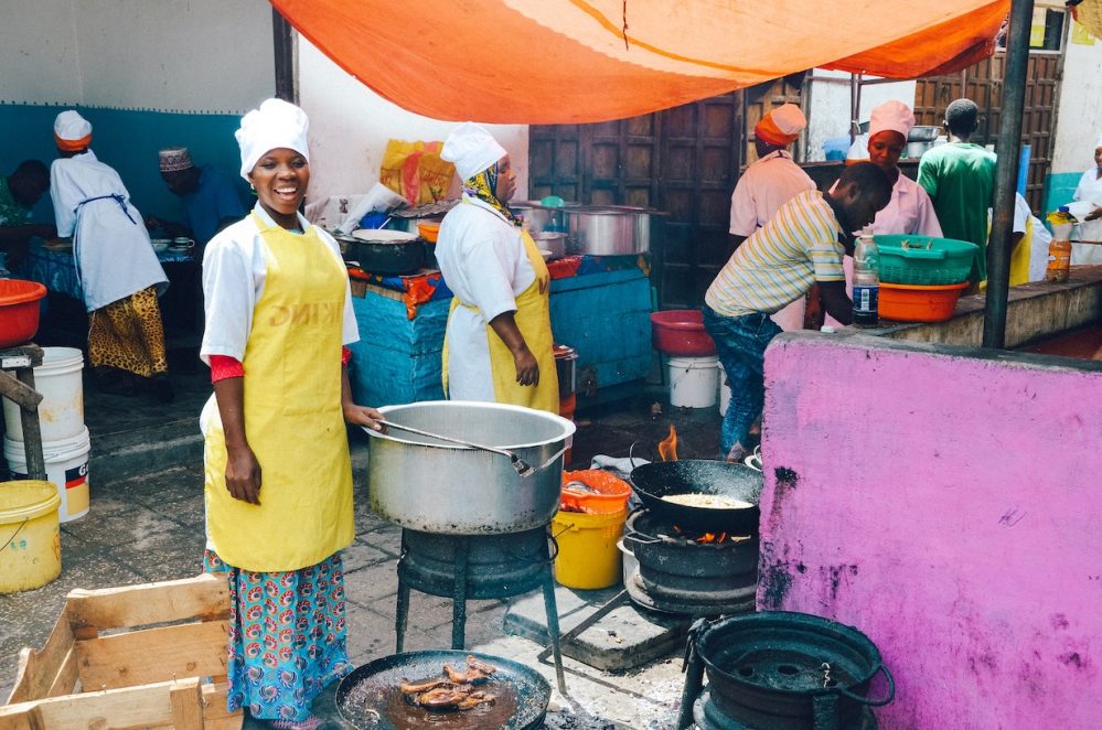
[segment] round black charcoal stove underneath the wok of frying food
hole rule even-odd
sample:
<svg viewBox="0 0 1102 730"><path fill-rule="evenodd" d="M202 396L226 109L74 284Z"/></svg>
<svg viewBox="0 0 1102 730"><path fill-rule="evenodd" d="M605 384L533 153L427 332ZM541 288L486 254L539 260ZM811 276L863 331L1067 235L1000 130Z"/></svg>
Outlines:
<svg viewBox="0 0 1102 730"><path fill-rule="evenodd" d="M628 518L623 543L638 562L624 584L636 604L693 616L753 611L757 535L686 533L639 509Z"/></svg>

